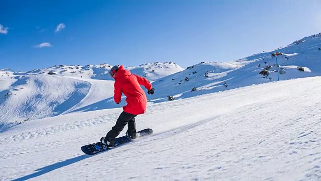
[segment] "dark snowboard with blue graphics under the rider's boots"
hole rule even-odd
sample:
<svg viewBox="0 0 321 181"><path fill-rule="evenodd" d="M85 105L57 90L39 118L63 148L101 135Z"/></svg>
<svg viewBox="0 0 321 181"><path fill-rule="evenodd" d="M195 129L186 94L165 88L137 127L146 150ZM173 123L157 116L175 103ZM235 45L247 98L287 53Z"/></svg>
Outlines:
<svg viewBox="0 0 321 181"><path fill-rule="evenodd" d="M137 137L136 139L139 139L139 137L143 137L151 134L152 134L152 129L149 129L149 128L143 129L136 132L136 137ZM130 138L128 138L127 136L122 136L122 137L116 138L115 146L112 148L108 148L106 145L102 144L101 142L97 142L97 143L91 143L91 144L82 146L81 151L86 154L93 155L101 151L113 149L119 145L122 145L124 143L129 143L129 142L131 142Z"/></svg>

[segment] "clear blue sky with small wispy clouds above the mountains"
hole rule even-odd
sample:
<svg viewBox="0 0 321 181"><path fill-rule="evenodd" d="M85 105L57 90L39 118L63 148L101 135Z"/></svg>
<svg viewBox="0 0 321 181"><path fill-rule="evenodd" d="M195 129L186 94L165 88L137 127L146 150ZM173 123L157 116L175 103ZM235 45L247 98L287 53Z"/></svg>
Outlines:
<svg viewBox="0 0 321 181"><path fill-rule="evenodd" d="M319 0L2 0L0 68L233 61L320 33L320 10Z"/></svg>

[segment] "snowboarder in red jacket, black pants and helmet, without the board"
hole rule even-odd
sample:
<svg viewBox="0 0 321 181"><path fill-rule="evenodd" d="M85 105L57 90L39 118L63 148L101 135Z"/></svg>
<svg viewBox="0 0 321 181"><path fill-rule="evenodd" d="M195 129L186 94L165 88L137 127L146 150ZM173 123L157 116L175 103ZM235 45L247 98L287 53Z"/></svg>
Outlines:
<svg viewBox="0 0 321 181"><path fill-rule="evenodd" d="M115 145L115 138L128 124L126 135L130 139L136 138L136 124L135 117L139 114L144 114L146 111L147 98L140 87L143 85L148 91L148 94L154 94L154 88L151 83L141 76L131 74L130 71L125 70L124 66L113 66L109 74L115 79L114 83L114 101L119 104L122 93L127 97L126 106L123 106L123 112L119 115L115 126L106 134L105 137L100 138L100 142L107 145L109 148ZM140 85L139 85L140 84Z"/></svg>

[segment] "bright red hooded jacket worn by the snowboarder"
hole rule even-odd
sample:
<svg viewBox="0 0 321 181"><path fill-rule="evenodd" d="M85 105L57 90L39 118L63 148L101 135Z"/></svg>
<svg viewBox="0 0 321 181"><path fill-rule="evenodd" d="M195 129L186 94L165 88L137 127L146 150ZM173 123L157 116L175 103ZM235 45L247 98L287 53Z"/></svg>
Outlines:
<svg viewBox="0 0 321 181"><path fill-rule="evenodd" d="M114 100L120 103L122 93L127 97L127 105L123 107L126 113L138 115L146 111L147 98L139 84L147 90L151 89L151 83L146 78L131 74L123 65L118 68L114 83Z"/></svg>

